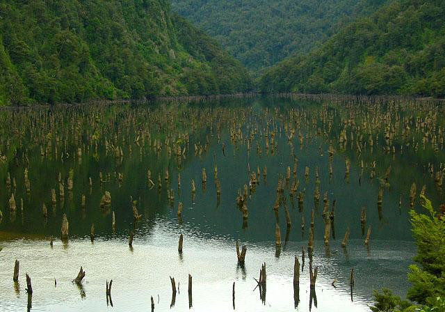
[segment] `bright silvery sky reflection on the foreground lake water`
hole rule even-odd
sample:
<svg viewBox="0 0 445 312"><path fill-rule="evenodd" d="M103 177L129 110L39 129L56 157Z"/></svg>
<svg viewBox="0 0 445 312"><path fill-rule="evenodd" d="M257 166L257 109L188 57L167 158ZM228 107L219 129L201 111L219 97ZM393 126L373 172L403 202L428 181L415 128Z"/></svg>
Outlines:
<svg viewBox="0 0 445 312"><path fill-rule="evenodd" d="M309 311L309 267L302 267L298 292L293 288L293 257L301 256L305 242L289 242L280 258L270 244L249 244L245 267L236 264L235 242L225 237L204 239L200 233L186 232L184 251L177 253L175 224L158 219L150 237L139 237L130 250L126 239L88 237L70 240L67 246L54 242L51 249L42 240L5 242L1 253L0 274L2 311L17 311L26 305L24 289L15 291L11 278L13 263L21 258L21 270L32 272L32 311L106 311L106 281L113 279L111 299L116 311L146 311L155 298L155 311L184 311L188 308L188 274L193 276L193 310L228 311L233 309L232 283L236 282L236 311ZM333 249L327 258L323 242L316 242L314 265L318 281L312 293L312 309L317 311L368 311L373 289L387 286L406 289L401 278L414 255L408 242L376 241L370 253L361 240L352 240L348 258L341 249ZM403 255L403 256L402 256ZM267 290L254 289L261 264L267 264ZM83 266L83 286L72 279ZM353 301L349 272L355 267ZM176 280L178 292L172 297L169 276ZM22 276L20 276L22 279ZM57 285L54 286L54 279ZM337 279L336 288L331 283ZM159 296L159 297L158 297ZM159 302L158 302L159 298ZM108 308L107 308L108 306ZM211 307L211 308L209 308Z"/></svg>

